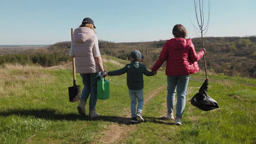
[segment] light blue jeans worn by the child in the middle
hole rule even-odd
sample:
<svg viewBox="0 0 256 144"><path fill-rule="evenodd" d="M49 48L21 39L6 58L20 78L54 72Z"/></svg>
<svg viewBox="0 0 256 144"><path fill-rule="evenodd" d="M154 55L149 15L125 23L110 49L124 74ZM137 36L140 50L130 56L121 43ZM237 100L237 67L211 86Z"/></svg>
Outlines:
<svg viewBox="0 0 256 144"><path fill-rule="evenodd" d="M143 88L140 90L129 89L129 95L131 98L131 117L135 117L137 99L138 99L137 112L142 113L142 108L143 108L143 103L144 103Z"/></svg>

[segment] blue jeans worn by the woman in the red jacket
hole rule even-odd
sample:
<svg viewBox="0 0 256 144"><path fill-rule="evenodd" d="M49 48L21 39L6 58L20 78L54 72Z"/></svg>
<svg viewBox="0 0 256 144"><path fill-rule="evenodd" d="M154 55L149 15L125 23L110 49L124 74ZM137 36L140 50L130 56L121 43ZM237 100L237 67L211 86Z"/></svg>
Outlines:
<svg viewBox="0 0 256 144"><path fill-rule="evenodd" d="M167 111L174 111L175 91L177 88L176 116L182 117L186 105L186 92L189 75L167 76Z"/></svg>

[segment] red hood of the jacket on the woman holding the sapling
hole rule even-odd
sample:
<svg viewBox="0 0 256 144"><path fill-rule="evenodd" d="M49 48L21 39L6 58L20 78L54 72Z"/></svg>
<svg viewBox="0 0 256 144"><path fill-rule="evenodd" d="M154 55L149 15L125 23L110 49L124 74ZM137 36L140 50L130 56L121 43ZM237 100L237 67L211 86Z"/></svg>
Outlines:
<svg viewBox="0 0 256 144"><path fill-rule="evenodd" d="M167 44L173 49L182 49L192 43L191 39L174 38L167 41Z"/></svg>

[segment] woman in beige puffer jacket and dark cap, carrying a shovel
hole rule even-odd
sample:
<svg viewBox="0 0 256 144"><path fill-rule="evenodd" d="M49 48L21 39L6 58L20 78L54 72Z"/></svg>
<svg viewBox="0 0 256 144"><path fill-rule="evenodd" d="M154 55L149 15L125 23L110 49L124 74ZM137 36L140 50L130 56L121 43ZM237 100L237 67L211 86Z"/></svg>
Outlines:
<svg viewBox="0 0 256 144"><path fill-rule="evenodd" d="M86 115L85 104L89 100L89 118L98 117L95 112L97 103L97 81L105 76L102 58L98 48L98 38L95 34L93 20L83 19L79 28L74 30L69 55L75 57L76 72L80 73L84 88L80 103L77 106L80 115Z"/></svg>

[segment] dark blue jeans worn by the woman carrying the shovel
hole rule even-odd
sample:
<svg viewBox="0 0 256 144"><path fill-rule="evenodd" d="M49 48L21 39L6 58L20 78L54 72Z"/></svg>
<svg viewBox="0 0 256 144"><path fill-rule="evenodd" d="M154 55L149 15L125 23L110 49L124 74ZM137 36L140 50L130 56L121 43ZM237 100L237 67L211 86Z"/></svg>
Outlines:
<svg viewBox="0 0 256 144"><path fill-rule="evenodd" d="M87 101L90 96L89 109L93 110L97 103L97 81L101 79L101 72L80 74L84 84L81 94L81 100Z"/></svg>

